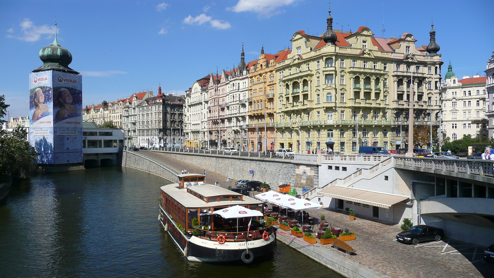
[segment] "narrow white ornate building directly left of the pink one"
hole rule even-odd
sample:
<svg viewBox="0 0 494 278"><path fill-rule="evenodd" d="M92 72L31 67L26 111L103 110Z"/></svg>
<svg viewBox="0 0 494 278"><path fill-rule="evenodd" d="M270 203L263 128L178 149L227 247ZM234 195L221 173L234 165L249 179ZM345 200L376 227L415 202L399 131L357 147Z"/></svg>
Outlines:
<svg viewBox="0 0 494 278"><path fill-rule="evenodd" d="M186 146L190 148L207 147L208 84L209 75L195 81L185 98L184 133Z"/></svg>

